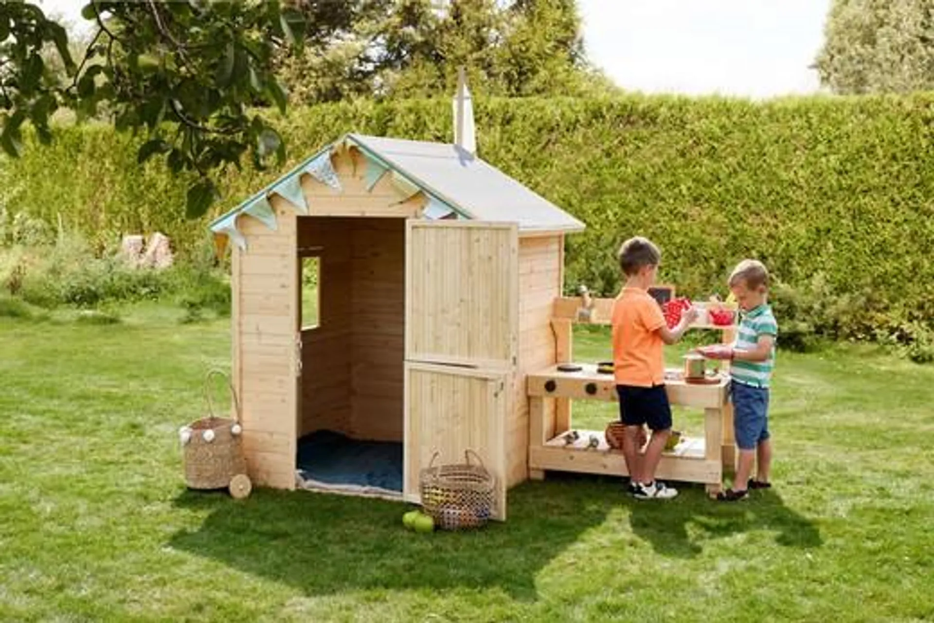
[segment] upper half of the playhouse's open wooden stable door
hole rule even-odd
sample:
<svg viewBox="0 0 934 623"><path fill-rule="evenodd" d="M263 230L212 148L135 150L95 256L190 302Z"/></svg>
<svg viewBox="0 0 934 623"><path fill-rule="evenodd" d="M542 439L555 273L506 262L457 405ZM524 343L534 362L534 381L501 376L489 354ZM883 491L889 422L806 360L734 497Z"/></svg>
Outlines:
<svg viewBox="0 0 934 623"><path fill-rule="evenodd" d="M406 357L414 361L512 367L517 337L515 229L476 223L413 223Z"/></svg>

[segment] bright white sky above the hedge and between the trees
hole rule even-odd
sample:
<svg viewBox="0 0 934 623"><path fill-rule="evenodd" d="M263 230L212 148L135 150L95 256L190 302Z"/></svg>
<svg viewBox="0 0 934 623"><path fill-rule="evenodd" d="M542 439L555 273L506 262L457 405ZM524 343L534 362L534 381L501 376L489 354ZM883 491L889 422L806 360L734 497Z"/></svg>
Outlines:
<svg viewBox="0 0 934 623"><path fill-rule="evenodd" d="M77 24L85 0L39 0ZM620 87L754 98L814 92L830 0L578 0L591 62Z"/></svg>

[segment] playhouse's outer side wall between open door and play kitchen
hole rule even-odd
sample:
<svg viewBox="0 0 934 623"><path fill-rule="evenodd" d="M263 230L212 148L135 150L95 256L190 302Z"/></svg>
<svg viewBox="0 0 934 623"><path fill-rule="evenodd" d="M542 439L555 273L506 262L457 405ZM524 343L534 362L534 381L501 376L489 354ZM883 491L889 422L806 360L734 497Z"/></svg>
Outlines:
<svg viewBox="0 0 934 623"><path fill-rule="evenodd" d="M551 309L561 292L559 235L519 239L519 356L514 407L506 423L507 484L529 475L529 399L525 375L555 362ZM549 408L553 401L546 401Z"/></svg>

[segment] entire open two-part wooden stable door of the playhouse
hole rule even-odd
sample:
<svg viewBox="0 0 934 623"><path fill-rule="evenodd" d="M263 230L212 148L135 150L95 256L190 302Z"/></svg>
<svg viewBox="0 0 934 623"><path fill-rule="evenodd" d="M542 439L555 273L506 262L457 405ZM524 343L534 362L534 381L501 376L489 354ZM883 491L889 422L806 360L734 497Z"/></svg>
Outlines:
<svg viewBox="0 0 934 623"><path fill-rule="evenodd" d="M405 258L403 495L418 473L473 451L505 518L505 425L518 343L518 235L512 224L409 220ZM475 459L472 457L475 462Z"/></svg>

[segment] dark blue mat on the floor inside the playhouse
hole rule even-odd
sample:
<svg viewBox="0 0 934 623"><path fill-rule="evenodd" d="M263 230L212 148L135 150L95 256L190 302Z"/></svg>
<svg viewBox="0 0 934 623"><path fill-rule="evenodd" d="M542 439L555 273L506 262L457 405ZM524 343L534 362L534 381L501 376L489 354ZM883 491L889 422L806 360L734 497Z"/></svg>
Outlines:
<svg viewBox="0 0 934 623"><path fill-rule="evenodd" d="M358 441L333 431L298 440L298 475L305 488L400 495L403 490L401 442Z"/></svg>

